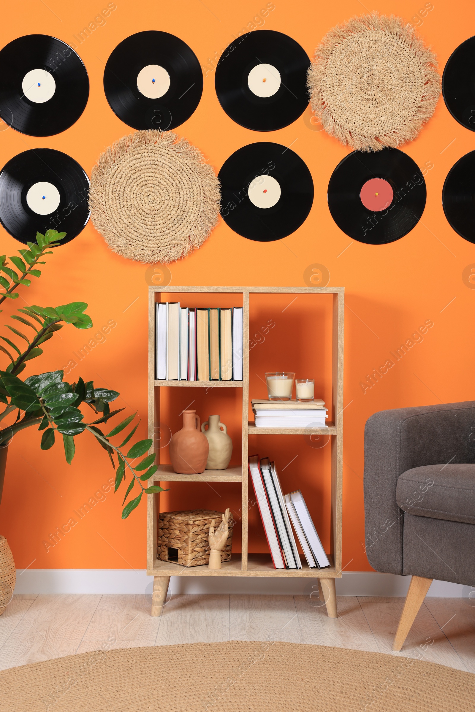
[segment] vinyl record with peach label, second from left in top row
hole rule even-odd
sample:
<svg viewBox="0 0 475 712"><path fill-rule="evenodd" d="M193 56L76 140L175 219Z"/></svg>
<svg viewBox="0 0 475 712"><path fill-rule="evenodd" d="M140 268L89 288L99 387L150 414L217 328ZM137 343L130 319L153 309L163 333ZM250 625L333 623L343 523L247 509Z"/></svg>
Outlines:
<svg viewBox="0 0 475 712"><path fill-rule="evenodd" d="M179 37L147 30L123 40L108 58L104 91L123 122L137 130L174 129L202 98L198 58Z"/></svg>

